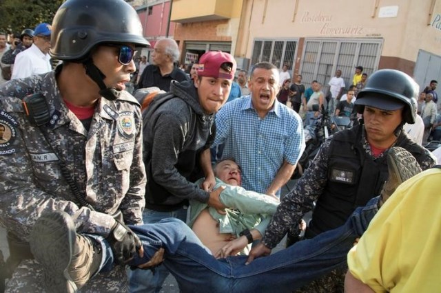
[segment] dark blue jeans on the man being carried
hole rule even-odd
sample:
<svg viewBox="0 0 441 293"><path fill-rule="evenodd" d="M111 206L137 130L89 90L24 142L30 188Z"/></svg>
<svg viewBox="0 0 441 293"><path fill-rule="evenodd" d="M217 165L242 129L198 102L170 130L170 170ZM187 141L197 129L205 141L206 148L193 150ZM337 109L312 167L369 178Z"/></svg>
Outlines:
<svg viewBox="0 0 441 293"><path fill-rule="evenodd" d="M245 265L247 257L215 259L193 231L178 219L130 226L143 242L147 262L165 248L164 265L178 281L181 292L292 292L346 262L353 241L362 235L378 211L379 197L357 208L345 225L313 239L295 243Z"/></svg>

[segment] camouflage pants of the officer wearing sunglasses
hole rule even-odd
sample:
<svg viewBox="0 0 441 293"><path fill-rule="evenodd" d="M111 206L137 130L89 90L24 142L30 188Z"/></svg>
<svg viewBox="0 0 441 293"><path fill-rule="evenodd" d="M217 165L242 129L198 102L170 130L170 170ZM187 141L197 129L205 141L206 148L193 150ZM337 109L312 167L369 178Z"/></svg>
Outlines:
<svg viewBox="0 0 441 293"><path fill-rule="evenodd" d="M35 260L22 261L6 284L5 292L45 292L39 263ZM79 292L128 292L125 268L116 266L111 272L94 276Z"/></svg>

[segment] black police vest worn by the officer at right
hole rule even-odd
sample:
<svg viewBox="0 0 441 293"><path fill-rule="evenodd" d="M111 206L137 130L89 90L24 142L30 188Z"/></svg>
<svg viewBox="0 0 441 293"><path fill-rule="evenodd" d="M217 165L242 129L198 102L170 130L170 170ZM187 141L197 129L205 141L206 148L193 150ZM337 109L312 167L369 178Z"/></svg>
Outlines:
<svg viewBox="0 0 441 293"><path fill-rule="evenodd" d="M362 146L362 125L340 131L332 138L327 186L318 198L308 237L345 224L353 210L380 195L389 175L387 156L373 159ZM421 162L422 146L400 134L394 146L401 146Z"/></svg>

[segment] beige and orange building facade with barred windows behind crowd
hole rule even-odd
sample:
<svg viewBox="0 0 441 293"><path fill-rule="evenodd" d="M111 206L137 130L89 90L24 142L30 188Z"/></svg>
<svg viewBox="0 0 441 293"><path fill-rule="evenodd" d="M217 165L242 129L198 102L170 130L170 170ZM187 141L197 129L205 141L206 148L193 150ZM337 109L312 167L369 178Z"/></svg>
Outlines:
<svg viewBox="0 0 441 293"><path fill-rule="evenodd" d="M223 50L238 67L287 65L305 83L327 84L341 69L349 85L358 65L402 70L420 87L441 79L441 0L172 2L183 58Z"/></svg>

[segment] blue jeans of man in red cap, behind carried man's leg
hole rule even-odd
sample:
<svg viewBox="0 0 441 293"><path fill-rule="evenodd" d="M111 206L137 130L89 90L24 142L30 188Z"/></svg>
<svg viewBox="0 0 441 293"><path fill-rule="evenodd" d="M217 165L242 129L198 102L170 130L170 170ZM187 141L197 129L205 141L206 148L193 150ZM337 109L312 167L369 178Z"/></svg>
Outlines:
<svg viewBox="0 0 441 293"><path fill-rule="evenodd" d="M158 212L156 210L145 209L143 213L143 221L146 224L158 223L158 221L165 218L177 218L185 222L185 219L187 218L187 209L180 208L171 212ZM152 272L152 270L130 270L130 268L127 268L130 293L160 292L161 287L169 274L170 272L164 265L159 265L155 268L154 272Z"/></svg>

